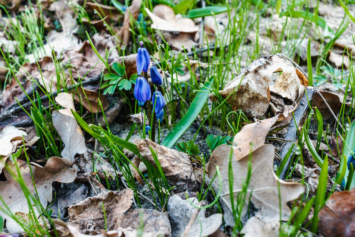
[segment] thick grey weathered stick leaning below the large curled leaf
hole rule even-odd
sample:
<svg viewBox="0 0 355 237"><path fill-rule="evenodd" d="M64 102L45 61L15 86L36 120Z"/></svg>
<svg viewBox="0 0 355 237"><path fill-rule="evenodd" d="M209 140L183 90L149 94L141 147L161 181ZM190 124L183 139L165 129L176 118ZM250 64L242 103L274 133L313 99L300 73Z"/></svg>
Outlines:
<svg viewBox="0 0 355 237"><path fill-rule="evenodd" d="M312 100L315 91L316 91L316 88L307 87L306 88L307 93L304 93L301 98L300 104L294 114L294 118L291 119L290 125L287 128L285 139L290 140L290 142L286 142L282 145L282 150L280 153L280 156L282 159L285 159L286 153L290 150L292 144L296 140L298 125L300 124L301 119L303 118L303 116L305 115L305 113L308 109L308 100ZM308 98L307 98L307 96L308 96ZM284 168L281 171L280 178L282 180L284 180L286 177L286 172L287 172L288 167L291 163L291 158L292 158L292 154L293 154L294 150L295 150L295 148L293 148L293 151L291 152L290 156L288 157L288 159L286 161Z"/></svg>

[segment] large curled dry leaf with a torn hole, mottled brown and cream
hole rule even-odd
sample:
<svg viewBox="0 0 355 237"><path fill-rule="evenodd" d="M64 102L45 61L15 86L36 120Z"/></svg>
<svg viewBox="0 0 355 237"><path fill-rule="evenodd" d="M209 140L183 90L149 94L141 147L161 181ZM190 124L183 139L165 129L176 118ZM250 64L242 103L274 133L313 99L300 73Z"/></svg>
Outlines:
<svg viewBox="0 0 355 237"><path fill-rule="evenodd" d="M270 103L272 74L280 71L282 73L277 77L272 90L295 101L302 87L300 79L295 67L278 55L266 55L254 60L227 83L219 94L225 99L234 93L227 100L233 110L242 109L243 112L251 112L253 116L263 115ZM217 98L211 94L210 99Z"/></svg>

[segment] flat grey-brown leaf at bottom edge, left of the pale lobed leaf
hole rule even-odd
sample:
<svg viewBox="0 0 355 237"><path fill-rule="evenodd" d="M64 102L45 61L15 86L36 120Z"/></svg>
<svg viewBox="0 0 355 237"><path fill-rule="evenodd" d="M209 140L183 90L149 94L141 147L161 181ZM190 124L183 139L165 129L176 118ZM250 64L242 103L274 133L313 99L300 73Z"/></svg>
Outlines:
<svg viewBox="0 0 355 237"><path fill-rule="evenodd" d="M131 209L119 224L121 228L136 230L137 234L141 231L142 225L144 237L170 236L171 227L167 212L154 209Z"/></svg>

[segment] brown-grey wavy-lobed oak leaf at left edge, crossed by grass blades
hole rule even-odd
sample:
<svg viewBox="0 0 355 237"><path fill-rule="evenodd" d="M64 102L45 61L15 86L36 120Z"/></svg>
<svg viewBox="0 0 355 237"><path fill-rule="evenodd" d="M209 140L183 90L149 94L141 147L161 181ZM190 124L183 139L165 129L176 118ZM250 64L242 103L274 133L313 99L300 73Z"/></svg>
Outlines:
<svg viewBox="0 0 355 237"><path fill-rule="evenodd" d="M31 170L26 161L15 161L23 180L33 195L36 194L33 183ZM7 178L6 181L0 181L0 196L4 199L4 204L7 205L12 213L25 213L29 212L27 199L23 194L20 184L11 178L10 172L17 174L15 162L10 160L6 161L6 169L4 169L4 175ZM36 197L40 203L46 207L47 203L52 201L52 183L54 181L61 183L71 183L74 181L77 173L75 165L72 165L71 161L65 158L53 156L47 160L47 164L42 167L38 164L31 165L34 182L37 188L38 197ZM4 206L0 204L1 207ZM33 209L35 211L41 210L39 206L35 206L33 203ZM37 214L37 213L36 213ZM21 227L15 220L7 216L0 211L0 215L6 219L6 227L10 232L21 232ZM38 215L39 216L39 215Z"/></svg>

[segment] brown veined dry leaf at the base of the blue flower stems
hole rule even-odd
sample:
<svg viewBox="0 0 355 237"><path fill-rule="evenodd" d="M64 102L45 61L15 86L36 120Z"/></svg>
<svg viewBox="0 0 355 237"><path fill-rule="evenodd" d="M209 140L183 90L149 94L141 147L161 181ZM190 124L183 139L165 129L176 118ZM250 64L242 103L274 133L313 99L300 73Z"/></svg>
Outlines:
<svg viewBox="0 0 355 237"><path fill-rule="evenodd" d="M174 149L169 149L147 139L135 140L134 143L137 145L141 155L155 165L149 148L152 147L158 156L160 166L162 166L166 179L170 181L172 185L177 187L177 192L186 191L187 183L189 183L190 188L195 186L196 178L192 173L190 155Z"/></svg>

